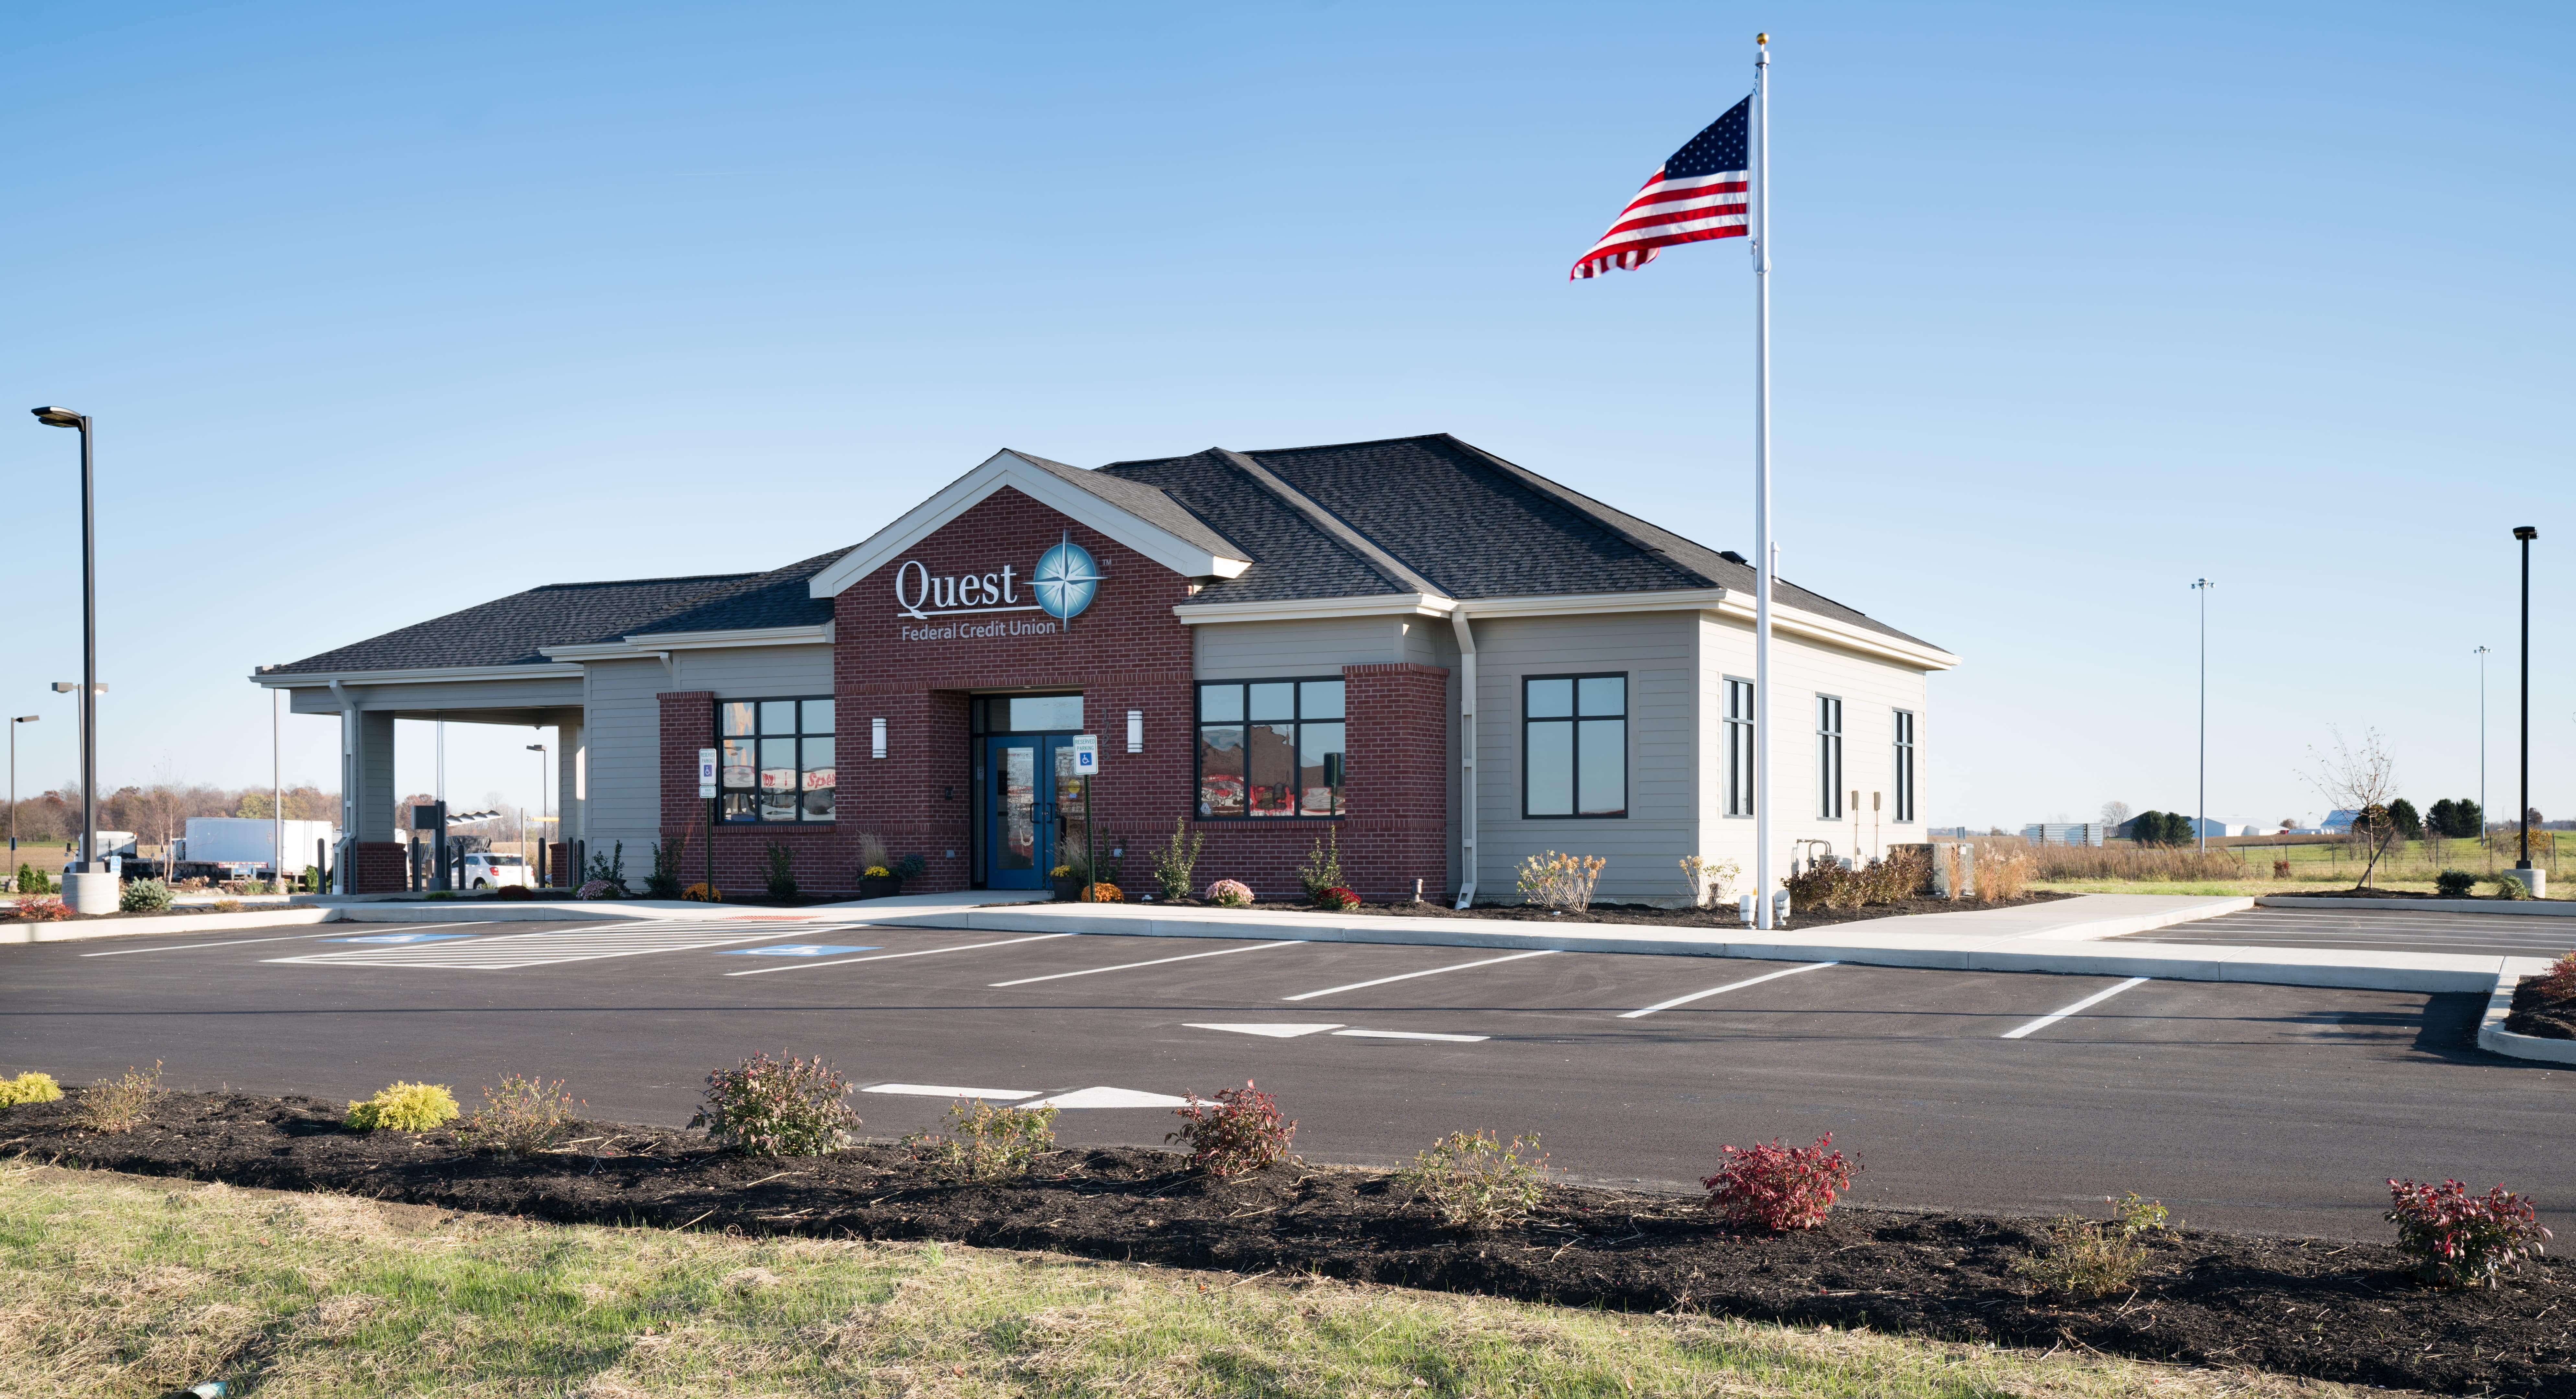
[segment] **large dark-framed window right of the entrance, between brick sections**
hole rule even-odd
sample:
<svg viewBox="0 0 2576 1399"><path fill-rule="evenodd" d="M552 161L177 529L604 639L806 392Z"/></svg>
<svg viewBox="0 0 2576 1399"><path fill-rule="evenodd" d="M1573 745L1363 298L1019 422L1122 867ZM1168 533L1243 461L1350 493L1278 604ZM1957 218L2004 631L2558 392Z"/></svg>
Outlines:
<svg viewBox="0 0 2576 1399"><path fill-rule="evenodd" d="M1198 814L1347 814L1347 732L1340 680L1200 685Z"/></svg>

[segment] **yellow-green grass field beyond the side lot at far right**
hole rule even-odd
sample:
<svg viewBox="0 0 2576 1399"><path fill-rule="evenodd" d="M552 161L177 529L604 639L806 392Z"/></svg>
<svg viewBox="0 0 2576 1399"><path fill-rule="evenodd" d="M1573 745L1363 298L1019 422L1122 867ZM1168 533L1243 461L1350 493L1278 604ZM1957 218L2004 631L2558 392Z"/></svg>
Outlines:
<svg viewBox="0 0 2576 1399"><path fill-rule="evenodd" d="M2561 863L2561 835L2568 832L2532 832L2532 863L2550 871L2553 899L2576 894L2563 884L2566 871L2576 871L2576 861ZM2300 845L2233 840L2223 845L2210 842L2205 853L2192 845L2040 845L2032 848L2032 858L2040 863L2032 889L2071 894L2316 894L2324 889L2352 889L2367 863L2362 848L2349 840L2311 840ZM2280 871L2277 863L2287 863L2287 871ZM2512 832L2496 837L2491 845L2478 840L2403 840L2380 855L2370 884L2375 889L2429 894L2434 873L2455 868L2478 876L2478 894L2494 894L2488 876L2512 863Z"/></svg>

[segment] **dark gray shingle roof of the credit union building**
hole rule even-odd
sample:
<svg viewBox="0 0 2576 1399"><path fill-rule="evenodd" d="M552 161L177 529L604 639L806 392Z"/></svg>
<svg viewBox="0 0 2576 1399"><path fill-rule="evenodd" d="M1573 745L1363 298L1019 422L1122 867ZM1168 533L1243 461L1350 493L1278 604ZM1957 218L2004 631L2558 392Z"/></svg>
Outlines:
<svg viewBox="0 0 2576 1399"><path fill-rule="evenodd" d="M1613 510L1448 433L1249 453L1208 448L1113 461L1097 471L1018 456L1213 554L1252 559L1239 577L1208 582L1190 605L1368 598L1414 593L1422 582L1461 600L1754 587L1754 569L1741 557ZM842 554L848 549L755 575L531 587L273 675L533 665L546 660L546 647L634 634L814 626L832 618L832 603L811 598L806 580ZM1914 642L1793 582L1780 582L1777 598Z"/></svg>

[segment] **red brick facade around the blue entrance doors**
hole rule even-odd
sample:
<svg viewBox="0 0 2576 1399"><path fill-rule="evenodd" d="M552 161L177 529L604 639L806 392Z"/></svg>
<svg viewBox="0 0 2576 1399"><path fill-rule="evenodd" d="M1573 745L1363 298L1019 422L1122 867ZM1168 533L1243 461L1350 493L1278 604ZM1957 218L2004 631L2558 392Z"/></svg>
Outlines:
<svg viewBox="0 0 2576 1399"><path fill-rule="evenodd" d="M1092 554L1105 582L1092 605L1059 623L1046 613L909 618L894 575L917 559L930 575L1028 569L1059 538ZM974 757L969 696L976 690L1082 690L1084 729L1100 734L1092 781L1103 845L1123 845L1121 884L1151 891L1151 848L1195 812L1193 642L1172 608L1188 580L1123 544L1020 495L999 490L902 559L835 598L832 675L837 701L837 822L739 824L716 832L719 889L760 891L762 850L796 850L804 889L853 889L858 837L873 832L894 855L922 855L914 891L963 889L971 879ZM1193 822L1206 835L1195 881L1242 879L1265 897L1296 894L1296 866L1337 830L1345 881L1368 897L1427 897L1448 889L1448 672L1425 665L1352 665L1347 680L1350 817ZM1128 711L1144 716L1144 752L1126 750ZM886 757L871 757L871 721L886 721ZM714 696L662 696L662 840L683 848L683 884L703 879L706 801L698 750L714 742ZM647 861L629 855L641 881Z"/></svg>

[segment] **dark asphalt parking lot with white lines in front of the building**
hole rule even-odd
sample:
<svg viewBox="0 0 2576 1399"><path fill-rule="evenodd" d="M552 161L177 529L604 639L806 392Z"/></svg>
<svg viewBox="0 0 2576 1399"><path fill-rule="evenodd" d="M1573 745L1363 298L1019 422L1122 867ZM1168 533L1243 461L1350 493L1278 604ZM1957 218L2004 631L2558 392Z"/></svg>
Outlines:
<svg viewBox="0 0 2576 1399"><path fill-rule="evenodd" d="M2239 915L2244 917L2244 915ZM2202 925L2208 928L2208 925ZM1538 1131L1579 1180L1687 1188L1721 1144L1824 1131L1860 1201L2084 1208L2380 1237L2385 1177L2506 1180L2576 1226L2576 1074L2468 1046L2473 995L1692 956L943 933L832 920L330 925L0 948L0 1069L358 1098L567 1080L680 1123L706 1069L822 1054L868 1134L951 1090L1159 1141L1257 1080L1314 1159Z"/></svg>

